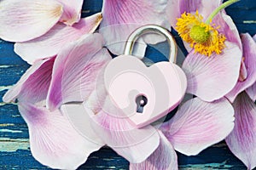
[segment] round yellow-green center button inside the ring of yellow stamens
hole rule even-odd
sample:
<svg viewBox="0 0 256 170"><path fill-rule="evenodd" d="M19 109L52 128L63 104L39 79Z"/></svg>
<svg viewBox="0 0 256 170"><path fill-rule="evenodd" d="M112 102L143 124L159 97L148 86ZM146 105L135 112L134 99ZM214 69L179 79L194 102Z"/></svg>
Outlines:
<svg viewBox="0 0 256 170"><path fill-rule="evenodd" d="M189 36L198 43L207 42L210 37L210 32L205 27L193 26L189 32Z"/></svg>

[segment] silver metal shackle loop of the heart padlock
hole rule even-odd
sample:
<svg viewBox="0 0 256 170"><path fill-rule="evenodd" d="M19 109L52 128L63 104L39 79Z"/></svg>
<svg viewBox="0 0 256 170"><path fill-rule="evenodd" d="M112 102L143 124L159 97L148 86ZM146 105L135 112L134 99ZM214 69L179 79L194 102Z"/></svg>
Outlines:
<svg viewBox="0 0 256 170"><path fill-rule="evenodd" d="M125 43L125 55L131 55L134 43L137 41L137 38L143 36L143 34L147 33L158 33L160 35L163 35L166 37L169 46L170 46L170 52L169 52L169 61L172 63L176 63L177 58L177 44L172 37L172 34L170 31L166 30L165 28L161 26L156 25L147 25L147 26L141 26L137 28L137 30L133 31L131 35L128 37L127 42Z"/></svg>

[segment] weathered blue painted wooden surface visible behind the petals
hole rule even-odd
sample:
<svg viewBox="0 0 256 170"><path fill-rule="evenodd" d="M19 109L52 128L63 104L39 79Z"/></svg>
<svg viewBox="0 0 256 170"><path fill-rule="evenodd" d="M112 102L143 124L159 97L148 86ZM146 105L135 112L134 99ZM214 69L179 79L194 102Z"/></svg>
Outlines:
<svg viewBox="0 0 256 170"><path fill-rule="evenodd" d="M99 12L102 0L84 0L83 16ZM241 0L226 11L240 32L256 33L256 1ZM179 37L177 37L179 41ZM178 44L182 47L181 43ZM0 169L49 169L34 160L29 150L26 123L16 105L3 103L2 97L29 65L13 52L14 45L0 40ZM215 144L198 156L178 154L180 169L246 169L230 153L224 142ZM91 154L79 169L128 169L129 163L113 150L102 148Z"/></svg>

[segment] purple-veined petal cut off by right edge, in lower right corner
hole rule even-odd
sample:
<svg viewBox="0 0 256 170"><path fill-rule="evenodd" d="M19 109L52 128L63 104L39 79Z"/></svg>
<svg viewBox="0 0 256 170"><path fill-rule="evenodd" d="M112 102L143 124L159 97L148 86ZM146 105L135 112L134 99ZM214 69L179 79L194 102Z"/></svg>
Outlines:
<svg viewBox="0 0 256 170"><path fill-rule="evenodd" d="M253 169L256 167L256 105L245 93L240 94L233 105L235 127L226 143L247 169Z"/></svg>

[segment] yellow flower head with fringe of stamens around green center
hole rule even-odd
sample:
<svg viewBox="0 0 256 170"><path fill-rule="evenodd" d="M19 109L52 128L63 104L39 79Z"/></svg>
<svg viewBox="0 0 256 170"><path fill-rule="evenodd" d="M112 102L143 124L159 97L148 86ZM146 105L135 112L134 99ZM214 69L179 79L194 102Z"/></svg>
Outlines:
<svg viewBox="0 0 256 170"><path fill-rule="evenodd" d="M177 32L183 41L189 42L195 52L210 56L212 53L221 54L226 37L210 24L202 21L203 17L195 14L183 13L177 19Z"/></svg>

